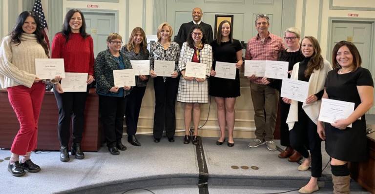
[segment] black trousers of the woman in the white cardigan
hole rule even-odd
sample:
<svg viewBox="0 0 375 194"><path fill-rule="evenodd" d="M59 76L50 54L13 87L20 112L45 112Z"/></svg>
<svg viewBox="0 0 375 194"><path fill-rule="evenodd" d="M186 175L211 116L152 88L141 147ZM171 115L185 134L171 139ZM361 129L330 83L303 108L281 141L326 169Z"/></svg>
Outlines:
<svg viewBox="0 0 375 194"><path fill-rule="evenodd" d="M322 151L321 142L316 124L312 122L309 116L302 109L302 102L298 102L298 122L294 123L293 129L289 133L291 145L294 150L303 157L309 157L311 154L311 175L312 177L322 176Z"/></svg>

